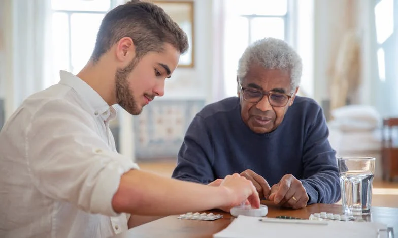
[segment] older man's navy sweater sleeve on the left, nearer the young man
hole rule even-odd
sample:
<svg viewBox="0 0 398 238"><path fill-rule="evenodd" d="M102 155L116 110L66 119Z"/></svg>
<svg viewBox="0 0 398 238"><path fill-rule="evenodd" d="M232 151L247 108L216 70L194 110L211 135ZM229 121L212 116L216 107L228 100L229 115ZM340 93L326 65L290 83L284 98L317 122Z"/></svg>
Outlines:
<svg viewBox="0 0 398 238"><path fill-rule="evenodd" d="M211 135L200 115L196 115L185 134L172 177L208 184L215 180L212 169Z"/></svg>

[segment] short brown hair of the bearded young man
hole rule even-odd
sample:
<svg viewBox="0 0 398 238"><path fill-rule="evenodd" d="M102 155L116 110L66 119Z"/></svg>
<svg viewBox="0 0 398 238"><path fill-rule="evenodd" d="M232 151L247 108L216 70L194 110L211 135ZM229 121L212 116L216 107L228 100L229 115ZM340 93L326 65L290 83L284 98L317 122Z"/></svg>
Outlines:
<svg viewBox="0 0 398 238"><path fill-rule="evenodd" d="M97 62L121 38L130 37L137 58L150 51L160 52L169 43L180 54L187 51L186 33L163 9L149 2L130 1L109 11L100 26L91 58Z"/></svg>

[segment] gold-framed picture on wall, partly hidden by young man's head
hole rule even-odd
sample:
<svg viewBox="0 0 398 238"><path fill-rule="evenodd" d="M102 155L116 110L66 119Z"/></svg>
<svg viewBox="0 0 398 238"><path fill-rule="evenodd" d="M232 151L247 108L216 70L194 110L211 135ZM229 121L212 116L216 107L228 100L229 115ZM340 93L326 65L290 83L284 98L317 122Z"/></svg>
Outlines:
<svg viewBox="0 0 398 238"><path fill-rule="evenodd" d="M194 3L193 1L150 1L161 7L188 36L189 49L180 56L179 67L194 67Z"/></svg>

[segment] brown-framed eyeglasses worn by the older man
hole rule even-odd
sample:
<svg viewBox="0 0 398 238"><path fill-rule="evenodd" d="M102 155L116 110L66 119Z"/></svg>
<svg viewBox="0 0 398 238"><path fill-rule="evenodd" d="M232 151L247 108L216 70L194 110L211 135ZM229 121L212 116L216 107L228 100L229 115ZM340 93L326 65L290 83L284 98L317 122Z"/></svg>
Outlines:
<svg viewBox="0 0 398 238"><path fill-rule="evenodd" d="M251 87L242 87L242 84L239 83L241 87L241 92L243 95L243 99L249 103L258 103L262 100L264 95L268 96L268 102L273 107L284 107L286 106L289 99L292 97L291 95L277 93L277 92L263 92L256 88Z"/></svg>

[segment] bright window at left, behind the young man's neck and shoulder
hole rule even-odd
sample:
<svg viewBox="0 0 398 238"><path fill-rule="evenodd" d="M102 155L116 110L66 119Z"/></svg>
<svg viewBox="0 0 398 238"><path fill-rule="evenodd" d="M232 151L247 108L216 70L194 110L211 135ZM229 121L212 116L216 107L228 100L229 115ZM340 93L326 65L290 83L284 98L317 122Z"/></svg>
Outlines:
<svg viewBox="0 0 398 238"><path fill-rule="evenodd" d="M61 69L77 74L84 67L94 49L101 21L116 2L51 0L54 78L58 79Z"/></svg>

